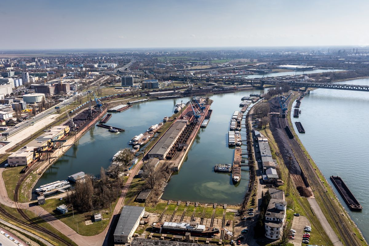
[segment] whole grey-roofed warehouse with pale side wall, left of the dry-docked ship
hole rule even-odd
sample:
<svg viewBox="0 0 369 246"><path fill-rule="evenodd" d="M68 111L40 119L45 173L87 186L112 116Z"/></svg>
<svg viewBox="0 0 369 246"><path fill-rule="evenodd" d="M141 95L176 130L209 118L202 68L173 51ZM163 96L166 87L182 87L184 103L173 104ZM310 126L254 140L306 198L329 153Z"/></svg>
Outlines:
<svg viewBox="0 0 369 246"><path fill-rule="evenodd" d="M130 243L133 233L145 214L144 207L123 206L120 217L114 231L115 243Z"/></svg>

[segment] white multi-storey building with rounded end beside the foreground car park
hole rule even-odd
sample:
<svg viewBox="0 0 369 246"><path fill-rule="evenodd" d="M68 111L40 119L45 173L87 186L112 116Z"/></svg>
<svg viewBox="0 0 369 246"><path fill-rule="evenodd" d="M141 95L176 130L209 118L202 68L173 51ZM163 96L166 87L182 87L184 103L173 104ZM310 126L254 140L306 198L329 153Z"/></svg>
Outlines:
<svg viewBox="0 0 369 246"><path fill-rule="evenodd" d="M268 209L265 212L265 236L272 240L278 240L282 235L282 228L286 218L287 202L281 199L271 198Z"/></svg>

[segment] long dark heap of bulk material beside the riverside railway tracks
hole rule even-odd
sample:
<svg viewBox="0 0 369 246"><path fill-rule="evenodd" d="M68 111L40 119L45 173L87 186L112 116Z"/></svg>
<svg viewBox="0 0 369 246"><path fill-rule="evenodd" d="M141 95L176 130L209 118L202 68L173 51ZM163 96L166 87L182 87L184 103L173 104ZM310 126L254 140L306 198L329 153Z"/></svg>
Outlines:
<svg viewBox="0 0 369 246"><path fill-rule="evenodd" d="M279 112L280 105L277 97L269 100L269 104L270 112ZM284 163L287 167L289 167L290 163L288 157L292 157L291 167L289 168L290 173L301 175L301 168L293 155L291 147L288 145L284 126L280 125L279 118L270 117L270 131L272 131L273 137L278 145L278 148L283 156Z"/></svg>

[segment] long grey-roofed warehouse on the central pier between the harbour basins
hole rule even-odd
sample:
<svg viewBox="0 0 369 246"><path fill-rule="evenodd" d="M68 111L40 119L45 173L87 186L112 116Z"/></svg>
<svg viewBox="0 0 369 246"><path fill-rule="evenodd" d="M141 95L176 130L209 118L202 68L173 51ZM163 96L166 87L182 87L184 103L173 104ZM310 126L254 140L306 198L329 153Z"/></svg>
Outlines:
<svg viewBox="0 0 369 246"><path fill-rule="evenodd" d="M148 154L149 158L158 158L159 160L163 160L183 130L186 128L187 124L188 121L185 119L179 119L174 122L168 131L165 132L162 138L150 150Z"/></svg>

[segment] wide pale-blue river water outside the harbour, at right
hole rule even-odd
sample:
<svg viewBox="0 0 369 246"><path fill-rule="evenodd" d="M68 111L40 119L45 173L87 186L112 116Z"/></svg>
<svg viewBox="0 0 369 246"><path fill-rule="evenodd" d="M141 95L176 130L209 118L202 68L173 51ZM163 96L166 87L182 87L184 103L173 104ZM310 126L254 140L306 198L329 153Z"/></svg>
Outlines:
<svg viewBox="0 0 369 246"><path fill-rule="evenodd" d="M368 85L369 79L349 80L343 84ZM295 103L293 104L295 105ZM369 93L332 89L316 89L301 100L299 118L291 117L301 142L331 184L330 176L340 176L363 206L352 212L334 187L341 204L369 239ZM297 131L300 121L306 133Z"/></svg>

